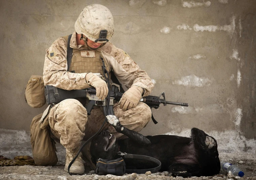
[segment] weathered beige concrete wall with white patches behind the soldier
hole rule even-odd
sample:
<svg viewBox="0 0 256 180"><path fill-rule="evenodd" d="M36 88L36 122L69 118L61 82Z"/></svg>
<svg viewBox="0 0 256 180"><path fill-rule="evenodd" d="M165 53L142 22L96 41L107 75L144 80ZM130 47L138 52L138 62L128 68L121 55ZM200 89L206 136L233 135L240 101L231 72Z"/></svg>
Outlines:
<svg viewBox="0 0 256 180"><path fill-rule="evenodd" d="M143 134L189 136L197 127L224 151L255 151L255 0L0 1L1 141L14 132L4 129L24 134L46 108L29 107L26 83L42 75L45 49L74 32L81 10L93 3L112 12L111 42L147 71L151 95L189 103L153 109L159 123Z"/></svg>

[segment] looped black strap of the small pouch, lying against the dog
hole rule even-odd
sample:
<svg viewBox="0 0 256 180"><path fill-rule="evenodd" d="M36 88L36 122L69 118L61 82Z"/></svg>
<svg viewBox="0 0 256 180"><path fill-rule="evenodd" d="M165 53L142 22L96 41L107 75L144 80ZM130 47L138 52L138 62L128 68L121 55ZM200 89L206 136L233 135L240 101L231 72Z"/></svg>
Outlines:
<svg viewBox="0 0 256 180"><path fill-rule="evenodd" d="M152 161L158 166L156 168L151 169L126 169L125 173L131 174L131 173L137 173L137 174L145 174L147 171L150 171L151 173L155 173L161 169L161 162L158 159L152 158L150 156L143 156L143 155L137 155L137 154L126 154L122 152L118 152L119 155L124 156L127 159L145 159Z"/></svg>

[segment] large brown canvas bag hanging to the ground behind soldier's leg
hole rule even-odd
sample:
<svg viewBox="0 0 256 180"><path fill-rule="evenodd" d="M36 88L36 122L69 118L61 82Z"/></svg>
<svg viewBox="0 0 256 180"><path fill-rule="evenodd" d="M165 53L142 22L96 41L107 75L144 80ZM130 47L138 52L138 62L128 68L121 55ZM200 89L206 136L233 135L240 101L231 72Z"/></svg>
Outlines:
<svg viewBox="0 0 256 180"><path fill-rule="evenodd" d="M58 162L56 143L50 135L48 111L35 116L30 125L32 154L35 164L38 166L55 166Z"/></svg>

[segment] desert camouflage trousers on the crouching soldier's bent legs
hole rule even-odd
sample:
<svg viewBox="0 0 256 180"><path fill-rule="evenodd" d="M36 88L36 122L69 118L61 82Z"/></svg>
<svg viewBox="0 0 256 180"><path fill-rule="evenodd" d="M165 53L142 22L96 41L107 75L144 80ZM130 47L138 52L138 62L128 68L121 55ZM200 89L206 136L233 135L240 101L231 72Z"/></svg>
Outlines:
<svg viewBox="0 0 256 180"><path fill-rule="evenodd" d="M74 149L95 134L105 120L105 115L99 106L87 116L85 107L75 99L66 99L53 106L49 112L51 132L65 148ZM119 104L113 106L114 114L120 123L128 129L141 131L151 119L151 109L145 103L139 102L134 108L122 111ZM115 131L114 127L105 123L107 129L116 138L124 135Z"/></svg>

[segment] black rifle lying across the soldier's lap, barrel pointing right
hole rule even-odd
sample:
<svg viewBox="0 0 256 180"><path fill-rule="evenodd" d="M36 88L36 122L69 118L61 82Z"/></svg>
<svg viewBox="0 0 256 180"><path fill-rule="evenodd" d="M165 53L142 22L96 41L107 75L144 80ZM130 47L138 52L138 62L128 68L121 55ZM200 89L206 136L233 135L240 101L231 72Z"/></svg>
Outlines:
<svg viewBox="0 0 256 180"><path fill-rule="evenodd" d="M87 98L89 100L89 103L86 105L87 114L90 115L92 109L94 106L103 106L105 115L114 115L113 111L113 104L114 100L119 101L123 95L124 92L119 92L118 87L115 85L112 85L110 88L110 108L107 112L107 98L104 100L98 99L96 96L96 89L95 88L87 88L87 89L80 89L80 90L64 90L60 88L56 88L50 85L45 86L45 98L47 104L55 105L59 102L65 100L65 99L77 99L77 98ZM163 99L160 99L160 97L163 97ZM171 102L166 101L165 94L162 92L160 96L145 96L142 97L141 102L144 102L147 104L150 108L157 109L160 104L163 104L166 106L167 104L173 104L173 105L179 105L179 106L188 106L188 103L180 103L180 102ZM152 115L152 120L156 124L156 120L154 119Z"/></svg>

